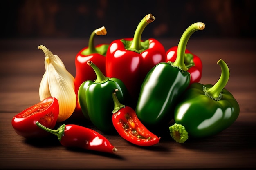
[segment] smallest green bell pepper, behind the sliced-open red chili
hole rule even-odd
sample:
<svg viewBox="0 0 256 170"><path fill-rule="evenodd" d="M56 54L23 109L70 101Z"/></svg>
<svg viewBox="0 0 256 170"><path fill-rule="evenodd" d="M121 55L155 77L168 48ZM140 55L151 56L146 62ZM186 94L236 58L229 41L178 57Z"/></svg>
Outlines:
<svg viewBox="0 0 256 170"><path fill-rule="evenodd" d="M92 61L89 60L87 64L93 68L97 78L94 82L87 80L79 87L78 100L83 115L102 132L115 132L112 124L112 91L118 88L120 93L117 94L117 98L126 103L127 88L120 79L105 77Z"/></svg>

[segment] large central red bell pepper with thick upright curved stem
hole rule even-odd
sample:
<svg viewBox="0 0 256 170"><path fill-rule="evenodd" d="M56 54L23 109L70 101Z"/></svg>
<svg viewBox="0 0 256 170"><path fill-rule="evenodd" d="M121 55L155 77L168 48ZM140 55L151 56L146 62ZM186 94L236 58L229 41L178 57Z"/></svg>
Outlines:
<svg viewBox="0 0 256 170"><path fill-rule="evenodd" d="M159 41L153 38L141 41L144 28L154 20L153 15L146 15L137 26L134 38L114 40L106 55L106 76L121 79L135 102L148 71L165 61L166 51Z"/></svg>

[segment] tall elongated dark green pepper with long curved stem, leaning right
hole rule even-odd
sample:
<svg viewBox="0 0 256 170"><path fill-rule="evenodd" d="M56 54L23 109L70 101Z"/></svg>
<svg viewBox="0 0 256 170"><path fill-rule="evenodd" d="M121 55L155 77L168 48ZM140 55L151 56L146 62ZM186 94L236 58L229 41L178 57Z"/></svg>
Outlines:
<svg viewBox="0 0 256 170"><path fill-rule="evenodd" d="M159 63L146 75L141 85L136 113L150 130L162 129L173 119L176 101L190 82L190 73L184 63L186 44L192 33L204 27L201 22L189 26L180 39L175 62Z"/></svg>

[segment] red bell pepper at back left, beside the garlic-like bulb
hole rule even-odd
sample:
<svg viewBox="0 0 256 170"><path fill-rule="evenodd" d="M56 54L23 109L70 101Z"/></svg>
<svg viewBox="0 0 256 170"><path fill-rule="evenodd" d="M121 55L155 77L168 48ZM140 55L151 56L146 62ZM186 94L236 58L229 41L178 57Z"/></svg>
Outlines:
<svg viewBox="0 0 256 170"><path fill-rule="evenodd" d="M106 34L107 34L107 31L104 26L94 30L90 35L88 47L81 49L81 51L79 51L79 53L77 53L76 55L76 60L75 60L76 76L74 80L76 98L77 98L77 92L78 92L79 86L87 80L94 81L95 79L94 71L87 64L88 60L91 60L92 62L94 62L101 69L102 73L104 75L106 74L105 72L106 57L105 56L106 56L106 52L109 44L98 44L97 46L94 46L94 35L106 35ZM78 100L76 102L75 111L81 111L81 107L79 105Z"/></svg>

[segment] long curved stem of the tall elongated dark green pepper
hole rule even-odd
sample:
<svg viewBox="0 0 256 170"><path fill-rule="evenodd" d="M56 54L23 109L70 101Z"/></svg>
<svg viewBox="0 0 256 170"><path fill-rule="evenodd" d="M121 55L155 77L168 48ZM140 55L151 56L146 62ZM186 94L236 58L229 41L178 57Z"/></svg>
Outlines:
<svg viewBox="0 0 256 170"><path fill-rule="evenodd" d="M202 22L196 22L189 26L189 28L186 29L186 31L182 34L182 37L180 38L180 42L178 44L177 49L177 58L175 62L173 63L173 66L180 67L183 71L187 71L188 68L186 68L186 65L184 63L184 55L186 50L186 45L189 41L189 38L191 35L198 30L203 30L205 28L204 23Z"/></svg>

